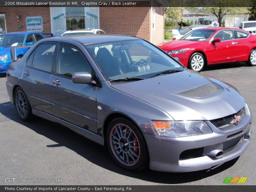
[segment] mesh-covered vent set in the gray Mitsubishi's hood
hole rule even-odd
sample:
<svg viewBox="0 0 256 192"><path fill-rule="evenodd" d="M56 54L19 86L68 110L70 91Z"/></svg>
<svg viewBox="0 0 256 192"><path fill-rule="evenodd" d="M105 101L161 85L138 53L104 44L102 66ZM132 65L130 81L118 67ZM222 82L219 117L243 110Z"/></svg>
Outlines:
<svg viewBox="0 0 256 192"><path fill-rule="evenodd" d="M190 97L201 98L214 95L220 92L220 88L214 84L207 84L196 89L190 89L188 91L179 92L179 94L187 95Z"/></svg>

